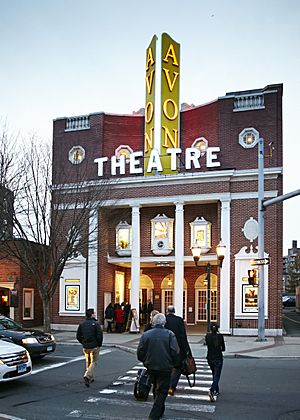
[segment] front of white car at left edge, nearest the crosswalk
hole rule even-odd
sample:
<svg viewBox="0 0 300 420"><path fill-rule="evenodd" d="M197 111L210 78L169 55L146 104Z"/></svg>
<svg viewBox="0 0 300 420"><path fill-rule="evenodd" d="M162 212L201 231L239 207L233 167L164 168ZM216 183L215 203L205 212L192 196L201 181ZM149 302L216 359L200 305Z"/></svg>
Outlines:
<svg viewBox="0 0 300 420"><path fill-rule="evenodd" d="M28 351L10 341L0 340L0 383L24 378L32 372Z"/></svg>

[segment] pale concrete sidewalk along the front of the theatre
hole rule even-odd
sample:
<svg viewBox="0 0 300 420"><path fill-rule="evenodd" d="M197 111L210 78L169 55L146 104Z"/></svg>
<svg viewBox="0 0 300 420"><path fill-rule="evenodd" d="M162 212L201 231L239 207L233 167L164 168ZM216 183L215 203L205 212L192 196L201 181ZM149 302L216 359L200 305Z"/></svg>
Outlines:
<svg viewBox="0 0 300 420"><path fill-rule="evenodd" d="M57 343L80 345L74 331L53 331ZM131 353L136 352L141 334L103 333L104 347L117 347ZM265 342L257 342L256 337L225 336L226 351L224 357L252 358L300 358L300 337L267 337ZM205 357L204 335L189 335L194 357Z"/></svg>

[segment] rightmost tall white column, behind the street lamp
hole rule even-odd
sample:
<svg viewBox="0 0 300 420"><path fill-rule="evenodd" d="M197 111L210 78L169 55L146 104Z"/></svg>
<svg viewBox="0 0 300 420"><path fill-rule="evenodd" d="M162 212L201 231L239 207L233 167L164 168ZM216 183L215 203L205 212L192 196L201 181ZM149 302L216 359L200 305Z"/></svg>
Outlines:
<svg viewBox="0 0 300 420"><path fill-rule="evenodd" d="M220 331L230 334L230 200L221 202L221 239L226 255L220 269Z"/></svg>

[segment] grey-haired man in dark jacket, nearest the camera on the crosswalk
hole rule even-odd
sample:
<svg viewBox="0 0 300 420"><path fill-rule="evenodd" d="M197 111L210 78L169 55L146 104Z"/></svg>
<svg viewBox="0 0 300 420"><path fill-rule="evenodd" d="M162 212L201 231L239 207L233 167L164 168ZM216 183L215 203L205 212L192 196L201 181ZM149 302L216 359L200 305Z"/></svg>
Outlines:
<svg viewBox="0 0 300 420"><path fill-rule="evenodd" d="M166 317L156 314L152 328L146 331L137 349L138 360L148 369L153 384L154 403L148 419L159 419L165 411L171 371L179 363L179 347L175 334L164 328Z"/></svg>

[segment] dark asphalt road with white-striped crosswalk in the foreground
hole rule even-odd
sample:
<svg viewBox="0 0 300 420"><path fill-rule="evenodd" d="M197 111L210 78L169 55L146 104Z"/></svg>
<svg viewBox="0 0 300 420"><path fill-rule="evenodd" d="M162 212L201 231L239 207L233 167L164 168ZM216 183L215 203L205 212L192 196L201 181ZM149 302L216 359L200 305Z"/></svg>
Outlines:
<svg viewBox="0 0 300 420"><path fill-rule="evenodd" d="M181 377L175 397L167 399L164 420L300 418L300 359L225 359L215 403L207 396L206 361L197 365L196 386L190 389ZM34 362L33 375L0 385L0 413L14 420L146 419L153 400L133 398L137 368L134 354L104 348L96 380L87 388L81 347L58 345L53 355Z"/></svg>

